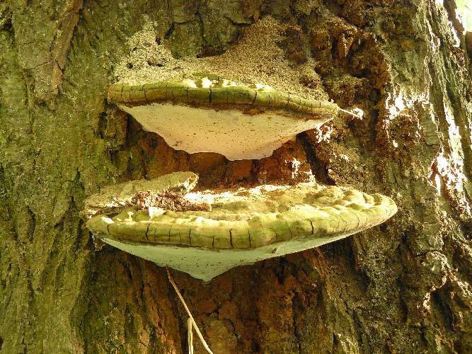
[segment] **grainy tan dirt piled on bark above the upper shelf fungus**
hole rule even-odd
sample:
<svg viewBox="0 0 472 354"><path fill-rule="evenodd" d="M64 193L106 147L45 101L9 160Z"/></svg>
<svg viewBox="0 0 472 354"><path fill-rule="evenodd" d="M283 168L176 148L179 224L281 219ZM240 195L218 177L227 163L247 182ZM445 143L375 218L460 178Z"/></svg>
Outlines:
<svg viewBox="0 0 472 354"><path fill-rule="evenodd" d="M219 74L244 84L267 84L302 98L326 100L321 80L311 70L313 59L306 59L301 67L295 68L286 58L280 42L289 46L284 42L290 36L288 28L289 25L266 16L244 28L238 41L221 55L175 59L170 48L156 42L156 32L148 18L143 30L127 42L129 54L115 69L117 82L138 85L183 79L194 73ZM309 81L310 87L302 84L304 81Z"/></svg>

